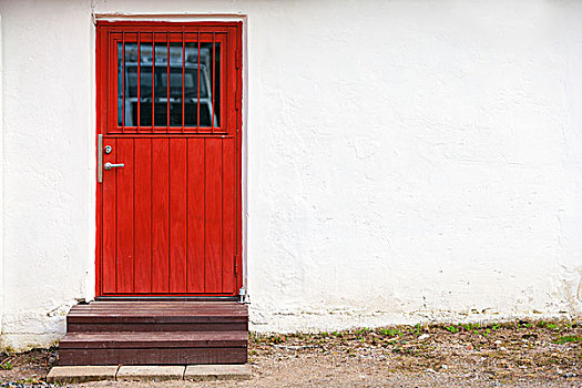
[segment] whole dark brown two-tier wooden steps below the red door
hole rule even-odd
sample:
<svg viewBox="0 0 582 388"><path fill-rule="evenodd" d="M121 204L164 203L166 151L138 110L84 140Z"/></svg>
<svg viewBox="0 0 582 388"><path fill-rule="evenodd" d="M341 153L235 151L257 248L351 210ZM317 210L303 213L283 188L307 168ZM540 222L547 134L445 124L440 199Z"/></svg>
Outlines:
<svg viewBox="0 0 582 388"><path fill-rule="evenodd" d="M229 302L95 302L74 306L61 365L245 364L248 309Z"/></svg>

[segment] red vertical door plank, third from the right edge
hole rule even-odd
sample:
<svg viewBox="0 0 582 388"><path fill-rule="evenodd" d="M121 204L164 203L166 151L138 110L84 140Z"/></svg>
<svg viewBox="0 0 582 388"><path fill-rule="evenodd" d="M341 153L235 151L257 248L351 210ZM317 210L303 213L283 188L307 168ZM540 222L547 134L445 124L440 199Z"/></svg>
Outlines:
<svg viewBox="0 0 582 388"><path fill-rule="evenodd" d="M187 292L204 293L204 139L188 139Z"/></svg>

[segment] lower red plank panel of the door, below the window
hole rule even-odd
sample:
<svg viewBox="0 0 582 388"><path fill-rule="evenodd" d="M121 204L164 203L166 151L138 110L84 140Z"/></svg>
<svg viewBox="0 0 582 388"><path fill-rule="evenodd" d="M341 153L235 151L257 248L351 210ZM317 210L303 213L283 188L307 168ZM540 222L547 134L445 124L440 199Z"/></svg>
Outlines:
<svg viewBox="0 0 582 388"><path fill-rule="evenodd" d="M103 293L235 294L235 140L106 143Z"/></svg>

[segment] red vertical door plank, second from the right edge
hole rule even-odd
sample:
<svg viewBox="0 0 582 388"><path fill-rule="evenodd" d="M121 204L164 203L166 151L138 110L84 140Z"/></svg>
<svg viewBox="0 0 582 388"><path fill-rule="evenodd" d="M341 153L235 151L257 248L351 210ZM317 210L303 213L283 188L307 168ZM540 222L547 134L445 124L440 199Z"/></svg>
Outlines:
<svg viewBox="0 0 582 388"><path fill-rule="evenodd" d="M222 292L222 140L206 139L205 292Z"/></svg>

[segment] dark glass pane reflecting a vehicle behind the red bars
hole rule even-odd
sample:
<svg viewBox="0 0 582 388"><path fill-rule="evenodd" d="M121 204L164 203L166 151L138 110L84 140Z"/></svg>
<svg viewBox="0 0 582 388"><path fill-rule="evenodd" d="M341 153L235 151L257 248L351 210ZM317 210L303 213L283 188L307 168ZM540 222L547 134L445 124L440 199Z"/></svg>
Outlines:
<svg viewBox="0 0 582 388"><path fill-rule="evenodd" d="M155 126L182 126L182 120L190 127L219 126L221 44L215 43L213 50L212 43L201 43L200 58L196 42L186 42L184 51L185 61L182 43L170 43L169 61L165 42L154 48L141 43L140 50L137 43L126 42L123 63L123 44L118 43L120 126L152 126L152 119Z"/></svg>

